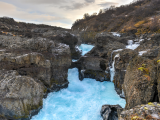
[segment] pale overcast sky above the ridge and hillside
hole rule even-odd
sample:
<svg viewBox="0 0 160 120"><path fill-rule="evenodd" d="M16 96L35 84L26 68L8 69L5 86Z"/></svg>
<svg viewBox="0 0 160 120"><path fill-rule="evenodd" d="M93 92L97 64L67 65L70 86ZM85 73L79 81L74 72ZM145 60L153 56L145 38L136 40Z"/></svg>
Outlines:
<svg viewBox="0 0 160 120"><path fill-rule="evenodd" d="M92 14L111 5L129 4L133 0L0 0L0 17L16 21L71 28L84 13Z"/></svg>

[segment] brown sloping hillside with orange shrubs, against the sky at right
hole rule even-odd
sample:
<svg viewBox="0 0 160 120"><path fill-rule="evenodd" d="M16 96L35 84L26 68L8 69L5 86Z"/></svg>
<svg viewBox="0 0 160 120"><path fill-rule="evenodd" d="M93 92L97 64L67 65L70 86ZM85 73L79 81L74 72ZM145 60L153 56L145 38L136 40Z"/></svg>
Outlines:
<svg viewBox="0 0 160 120"><path fill-rule="evenodd" d="M129 5L111 6L99 14L84 14L73 23L73 31L160 33L160 0L137 0Z"/></svg>

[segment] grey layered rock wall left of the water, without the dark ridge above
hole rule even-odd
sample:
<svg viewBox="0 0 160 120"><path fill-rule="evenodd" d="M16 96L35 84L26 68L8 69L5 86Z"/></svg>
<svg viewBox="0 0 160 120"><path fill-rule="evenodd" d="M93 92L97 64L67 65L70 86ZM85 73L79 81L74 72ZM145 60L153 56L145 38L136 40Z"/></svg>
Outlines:
<svg viewBox="0 0 160 120"><path fill-rule="evenodd" d="M46 38L0 35L0 115L28 118L46 92L68 86L70 47ZM12 71L14 70L14 71Z"/></svg>

